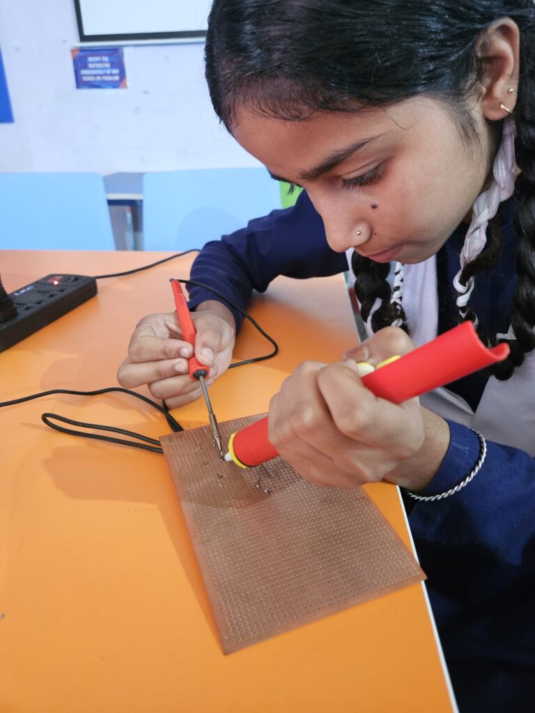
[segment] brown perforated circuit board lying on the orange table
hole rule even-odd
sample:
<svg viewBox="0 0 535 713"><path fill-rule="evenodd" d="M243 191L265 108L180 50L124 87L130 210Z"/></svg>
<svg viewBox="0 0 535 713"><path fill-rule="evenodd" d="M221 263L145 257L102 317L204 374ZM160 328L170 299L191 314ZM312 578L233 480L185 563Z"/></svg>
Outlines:
<svg viewBox="0 0 535 713"><path fill-rule="evenodd" d="M220 424L223 443L255 418ZM222 462L208 427L161 442L225 653L424 578L362 488Z"/></svg>

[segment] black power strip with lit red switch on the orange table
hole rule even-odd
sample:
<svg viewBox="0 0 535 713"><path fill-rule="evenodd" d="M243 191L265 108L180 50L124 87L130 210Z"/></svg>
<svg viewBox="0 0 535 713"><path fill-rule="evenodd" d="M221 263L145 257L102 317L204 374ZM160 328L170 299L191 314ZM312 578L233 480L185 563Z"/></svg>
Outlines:
<svg viewBox="0 0 535 713"><path fill-rule="evenodd" d="M0 352L39 332L95 295L96 279L84 275L46 275L11 292L9 297L17 314L0 323Z"/></svg>

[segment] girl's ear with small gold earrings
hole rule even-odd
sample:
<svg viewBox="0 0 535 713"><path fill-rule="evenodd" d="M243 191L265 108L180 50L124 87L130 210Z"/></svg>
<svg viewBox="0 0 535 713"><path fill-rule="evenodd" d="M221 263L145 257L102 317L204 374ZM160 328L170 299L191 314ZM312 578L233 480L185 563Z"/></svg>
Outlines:
<svg viewBox="0 0 535 713"><path fill-rule="evenodd" d="M497 121L512 113L519 84L520 31L509 17L491 25L478 40L481 61L481 110ZM507 111L509 110L509 111Z"/></svg>

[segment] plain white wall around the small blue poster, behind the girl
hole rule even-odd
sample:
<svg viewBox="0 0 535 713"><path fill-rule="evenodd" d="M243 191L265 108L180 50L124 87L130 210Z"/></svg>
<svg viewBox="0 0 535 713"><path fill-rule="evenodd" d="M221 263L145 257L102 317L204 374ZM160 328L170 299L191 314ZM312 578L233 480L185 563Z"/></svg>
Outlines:
<svg viewBox="0 0 535 713"><path fill-rule="evenodd" d="M258 165L218 124L203 44L124 48L127 89L76 89L73 0L0 0L15 122L0 171L155 171Z"/></svg>

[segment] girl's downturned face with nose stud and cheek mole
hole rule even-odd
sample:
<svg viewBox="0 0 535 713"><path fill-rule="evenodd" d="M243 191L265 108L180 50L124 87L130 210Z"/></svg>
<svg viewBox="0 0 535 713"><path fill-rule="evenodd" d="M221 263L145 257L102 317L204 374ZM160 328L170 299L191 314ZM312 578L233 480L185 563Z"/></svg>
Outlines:
<svg viewBox="0 0 535 713"><path fill-rule="evenodd" d="M233 135L274 178L307 190L332 250L376 262L426 260L483 190L494 153L479 107L467 145L439 101L419 97L300 121L238 108Z"/></svg>

